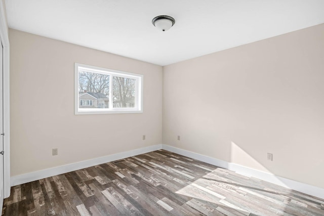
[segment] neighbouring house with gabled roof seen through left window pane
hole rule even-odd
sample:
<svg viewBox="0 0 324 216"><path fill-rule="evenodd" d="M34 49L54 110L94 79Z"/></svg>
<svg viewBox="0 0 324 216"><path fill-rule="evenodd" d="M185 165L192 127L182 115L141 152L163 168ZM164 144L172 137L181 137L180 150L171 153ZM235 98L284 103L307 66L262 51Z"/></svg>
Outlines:
<svg viewBox="0 0 324 216"><path fill-rule="evenodd" d="M108 108L108 98L103 93L79 93L79 108Z"/></svg>

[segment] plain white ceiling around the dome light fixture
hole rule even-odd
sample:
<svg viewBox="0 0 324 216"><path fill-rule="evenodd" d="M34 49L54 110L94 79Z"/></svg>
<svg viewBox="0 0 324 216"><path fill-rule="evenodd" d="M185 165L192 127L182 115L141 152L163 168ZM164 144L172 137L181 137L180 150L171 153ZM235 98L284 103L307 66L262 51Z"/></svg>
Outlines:
<svg viewBox="0 0 324 216"><path fill-rule="evenodd" d="M323 0L6 0L10 28L169 65L324 23ZM151 21L176 23L159 31Z"/></svg>

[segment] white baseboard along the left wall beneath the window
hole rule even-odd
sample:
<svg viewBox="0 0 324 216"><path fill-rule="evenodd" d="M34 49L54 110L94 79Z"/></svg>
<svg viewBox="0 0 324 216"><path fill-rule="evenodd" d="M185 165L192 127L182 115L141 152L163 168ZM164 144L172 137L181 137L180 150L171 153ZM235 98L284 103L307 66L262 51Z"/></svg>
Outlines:
<svg viewBox="0 0 324 216"><path fill-rule="evenodd" d="M161 149L161 144L154 145L154 146L148 146L148 147L144 147L144 148L140 148L140 149L134 149L134 150L121 152L121 153L117 153L117 154L107 155L104 157L98 157L98 158L94 158L94 159L90 159L90 160L84 160L84 161L80 161L80 162L76 162L76 163L70 163L70 164L66 164L63 166L57 166L57 167L53 167L53 168L49 168L49 169L43 169L43 170L39 170L39 171L29 172L27 174L12 176L10 183L11 183L11 186L21 185L21 184L24 184L27 182L32 182L32 181L36 181L39 179L44 179L44 178L48 178L51 176L64 174L65 172L83 169L83 168L87 168L90 166L95 166L98 164L123 159L126 157L132 157L135 155L144 154L144 153L151 152L151 151L156 151L159 149Z"/></svg>

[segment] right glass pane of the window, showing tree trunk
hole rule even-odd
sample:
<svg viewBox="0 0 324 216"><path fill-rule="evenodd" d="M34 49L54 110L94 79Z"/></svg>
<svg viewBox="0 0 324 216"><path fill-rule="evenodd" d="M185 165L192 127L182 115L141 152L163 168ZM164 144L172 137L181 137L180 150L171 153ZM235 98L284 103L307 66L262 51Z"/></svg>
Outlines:
<svg viewBox="0 0 324 216"><path fill-rule="evenodd" d="M135 82L136 79L113 76L113 107L135 107Z"/></svg>

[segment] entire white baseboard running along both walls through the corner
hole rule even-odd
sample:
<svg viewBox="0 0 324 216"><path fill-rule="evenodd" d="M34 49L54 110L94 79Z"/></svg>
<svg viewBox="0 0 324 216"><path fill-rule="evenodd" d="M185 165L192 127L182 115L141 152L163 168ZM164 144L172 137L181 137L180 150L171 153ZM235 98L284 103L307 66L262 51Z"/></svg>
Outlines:
<svg viewBox="0 0 324 216"><path fill-rule="evenodd" d="M215 166L219 166L222 168L226 168L226 169L235 171L236 173L244 175L244 176L250 176L250 177L257 178L257 179L261 179L261 180L264 180L264 181L267 181L267 182L270 182L270 183L273 183L276 185L280 185L280 186L283 186L283 187L286 187L286 188L289 188L292 190L296 190L296 191L299 191L299 192L302 192L305 194L309 194L309 195L324 199L324 188L318 188L318 187L311 186L311 185L308 185L305 183L296 182L294 180L275 176L268 172L260 171L257 169L249 168L249 167L242 166L242 165L235 164L235 163L230 163L230 162L227 162L224 160L216 159L216 158L209 157L209 156L202 155L202 154L197 154L194 152L190 152L190 151L187 151L184 149L180 149L180 148L176 148L176 147L164 145L164 144L148 146L148 147L134 149L134 150L127 151L127 152L121 152L121 153L112 154L112 155L108 155L108 156L104 156L104 157L98 157L98 158L94 158L94 159L90 159L90 160L66 164L63 166L57 166L57 167L53 167L53 168L49 168L49 169L43 169L43 170L39 170L39 171L29 172L27 174L23 174L23 175L19 175L19 176L13 176L13 177L11 177L11 186L20 185L20 184L32 182L35 180L64 174L65 172L70 172L70 171L74 171L77 169L83 169L86 167L95 166L98 164L107 163L110 161L123 159L126 157L131 157L131 156L144 154L144 153L151 152L151 151L156 151L159 149L171 151L171 152L174 152L174 153L186 156L186 157L190 157L190 158L200 160L200 161L203 161L203 162L206 162L209 164L213 164Z"/></svg>

